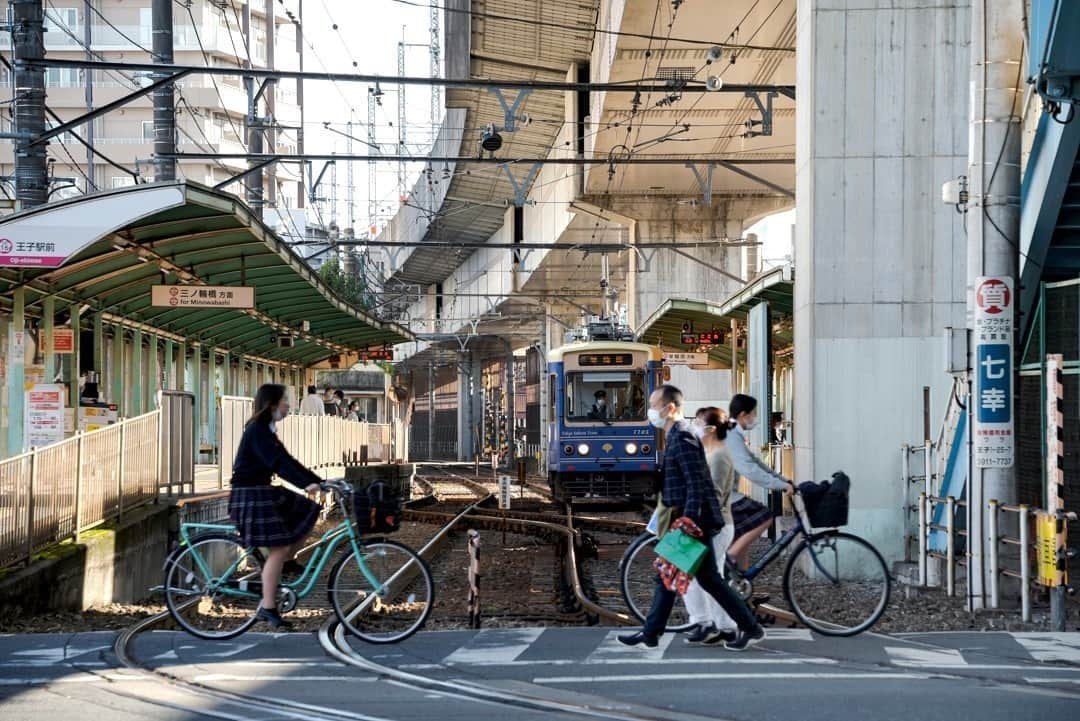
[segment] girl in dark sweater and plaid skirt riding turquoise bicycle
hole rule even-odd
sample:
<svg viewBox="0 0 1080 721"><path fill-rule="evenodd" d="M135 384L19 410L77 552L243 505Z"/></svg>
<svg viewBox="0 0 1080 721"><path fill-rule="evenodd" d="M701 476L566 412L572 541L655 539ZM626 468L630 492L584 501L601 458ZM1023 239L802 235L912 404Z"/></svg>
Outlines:
<svg viewBox="0 0 1080 721"><path fill-rule="evenodd" d="M278 612L278 583L286 561L319 518L320 505L282 486L271 486L274 475L307 493L319 490L320 478L289 455L276 436L275 423L288 414L285 386L267 383L255 394L255 412L244 426L232 464L229 517L245 546L269 548L262 566L262 602L258 620L273 628L293 624Z"/></svg>

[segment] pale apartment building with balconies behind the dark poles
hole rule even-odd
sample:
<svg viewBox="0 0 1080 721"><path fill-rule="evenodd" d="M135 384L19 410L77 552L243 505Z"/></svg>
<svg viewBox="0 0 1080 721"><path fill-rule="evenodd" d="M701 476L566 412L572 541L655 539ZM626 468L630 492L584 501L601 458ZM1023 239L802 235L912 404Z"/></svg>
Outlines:
<svg viewBox="0 0 1080 721"><path fill-rule="evenodd" d="M4 16L6 0L0 0ZM246 41L245 5L233 0L188 0L174 3L173 49L177 64L297 69L298 31L287 13L296 16L297 0L255 0L249 11L251 42ZM150 62L152 43L150 0L45 0L45 55L65 59ZM271 17L268 19L268 14ZM270 28L273 28L272 32ZM11 35L0 35L0 52L11 50ZM110 103L150 82L147 74L54 68L46 73L46 106L70 120ZM300 110L297 81L281 81L266 91L267 108L274 118L265 132L264 147L279 152L297 150ZM0 131L11 131L12 78L0 69ZM4 96L9 97L4 97ZM177 149L180 152L243 152L246 148L247 95L239 76L190 76L176 83ZM54 124L52 119L48 121ZM140 97L78 130L105 158L90 152L71 134L49 146L51 198L107 190L152 180L153 120L149 96ZM0 140L0 185L13 194L14 146ZM177 176L215 186L247 167L243 160L184 160ZM135 175L137 174L138 180ZM266 176L268 219L274 210L288 215L297 207L299 168L279 165ZM227 187L243 193L241 182ZM302 214L293 214L294 216ZM276 219L271 220L279 225ZM295 222L294 220L285 221Z"/></svg>

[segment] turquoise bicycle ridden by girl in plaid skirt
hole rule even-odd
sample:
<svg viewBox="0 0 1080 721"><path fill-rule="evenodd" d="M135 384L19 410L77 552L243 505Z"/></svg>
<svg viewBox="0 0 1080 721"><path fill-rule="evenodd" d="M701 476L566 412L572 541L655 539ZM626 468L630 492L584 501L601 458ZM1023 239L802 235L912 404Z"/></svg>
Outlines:
<svg viewBox="0 0 1080 721"><path fill-rule="evenodd" d="M362 538L350 513L353 490L343 480L320 486L345 517L311 546L303 573L279 585L278 608L293 610L314 590L338 546L347 553L329 572L327 593L342 626L369 643L395 643L419 630L431 614L434 584L411 548L383 538ZM165 604L189 634L229 639L255 624L262 598L262 552L245 547L229 525L183 523L180 545L165 560Z"/></svg>

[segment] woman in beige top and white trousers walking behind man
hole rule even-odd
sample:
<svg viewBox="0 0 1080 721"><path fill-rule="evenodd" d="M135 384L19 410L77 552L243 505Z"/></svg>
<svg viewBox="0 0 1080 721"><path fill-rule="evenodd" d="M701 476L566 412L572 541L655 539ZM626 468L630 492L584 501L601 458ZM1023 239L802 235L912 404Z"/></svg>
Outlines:
<svg viewBox="0 0 1080 721"><path fill-rule="evenodd" d="M724 575L725 569L720 559L726 557L728 546L734 538L731 489L734 486L735 474L731 453L724 441L728 435L728 418L719 408L713 406L699 408L691 423L691 430L701 439L708 474L713 478L716 498L723 511L724 528L713 536L713 550L716 554L720 575ZM697 628L687 634L687 643L713 644L734 640L738 628L735 622L696 581L690 583L683 602L690 615L690 623L697 624Z"/></svg>

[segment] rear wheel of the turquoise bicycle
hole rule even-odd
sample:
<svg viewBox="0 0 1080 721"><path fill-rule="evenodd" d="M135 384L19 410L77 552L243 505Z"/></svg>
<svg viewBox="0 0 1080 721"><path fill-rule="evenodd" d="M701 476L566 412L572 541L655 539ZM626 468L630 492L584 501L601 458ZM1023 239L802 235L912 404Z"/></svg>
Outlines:
<svg viewBox="0 0 1080 721"><path fill-rule="evenodd" d="M165 561L165 604L192 636L232 638L255 623L261 579L258 549L245 548L231 535L200 536Z"/></svg>

